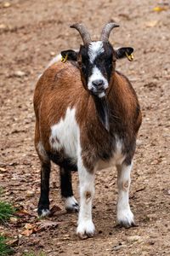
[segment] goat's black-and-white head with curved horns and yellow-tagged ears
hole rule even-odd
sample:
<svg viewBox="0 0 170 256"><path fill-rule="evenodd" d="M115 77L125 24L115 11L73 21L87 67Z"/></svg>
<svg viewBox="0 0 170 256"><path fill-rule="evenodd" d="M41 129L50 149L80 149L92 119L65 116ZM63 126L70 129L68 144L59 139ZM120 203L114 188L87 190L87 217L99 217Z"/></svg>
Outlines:
<svg viewBox="0 0 170 256"><path fill-rule="evenodd" d="M71 27L80 33L83 45L80 46L79 52L69 49L62 51L61 55L67 55L69 60L77 61L85 89L102 98L109 89L116 59L132 54L133 48L113 49L109 36L111 30L118 27L115 23L111 22L104 26L99 41L92 41L88 30L82 24L74 24Z"/></svg>

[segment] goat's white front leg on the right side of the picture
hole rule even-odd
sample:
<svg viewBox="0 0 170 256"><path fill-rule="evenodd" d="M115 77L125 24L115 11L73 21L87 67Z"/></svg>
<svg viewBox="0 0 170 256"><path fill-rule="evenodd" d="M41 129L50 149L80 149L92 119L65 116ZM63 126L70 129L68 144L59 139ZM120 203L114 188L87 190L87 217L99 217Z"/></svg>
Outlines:
<svg viewBox="0 0 170 256"><path fill-rule="evenodd" d="M131 212L128 202L128 192L130 187L130 172L132 164L127 166L123 163L117 167L117 186L118 186L118 200L117 200L117 223L128 228L134 225L133 212Z"/></svg>

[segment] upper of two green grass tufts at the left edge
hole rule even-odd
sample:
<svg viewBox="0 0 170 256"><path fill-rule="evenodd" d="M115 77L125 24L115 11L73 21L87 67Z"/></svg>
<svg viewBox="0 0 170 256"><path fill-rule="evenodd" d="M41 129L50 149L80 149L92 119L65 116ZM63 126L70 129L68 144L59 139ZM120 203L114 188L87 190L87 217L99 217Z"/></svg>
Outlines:
<svg viewBox="0 0 170 256"><path fill-rule="evenodd" d="M14 215L14 207L5 201L0 201L0 223L5 223Z"/></svg>

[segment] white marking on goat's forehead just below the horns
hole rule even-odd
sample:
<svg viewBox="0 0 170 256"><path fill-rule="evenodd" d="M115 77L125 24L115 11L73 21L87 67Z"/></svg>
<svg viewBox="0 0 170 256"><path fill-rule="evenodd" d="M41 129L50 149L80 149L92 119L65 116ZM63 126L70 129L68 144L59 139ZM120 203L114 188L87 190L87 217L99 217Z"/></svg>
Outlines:
<svg viewBox="0 0 170 256"><path fill-rule="evenodd" d="M88 56L90 62L93 64L95 58L104 52L104 45L102 41L92 42L88 46Z"/></svg>

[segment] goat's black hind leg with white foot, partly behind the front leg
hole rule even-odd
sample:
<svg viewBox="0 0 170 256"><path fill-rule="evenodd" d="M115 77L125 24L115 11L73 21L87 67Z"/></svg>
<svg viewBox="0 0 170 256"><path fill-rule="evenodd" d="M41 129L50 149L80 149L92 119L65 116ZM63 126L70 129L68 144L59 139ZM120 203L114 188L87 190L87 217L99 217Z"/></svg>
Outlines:
<svg viewBox="0 0 170 256"><path fill-rule="evenodd" d="M66 211L78 212L78 203L72 192L71 171L64 167L60 167L60 187L62 199L65 201Z"/></svg>

